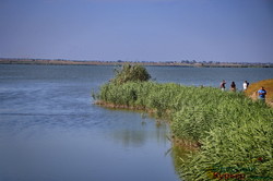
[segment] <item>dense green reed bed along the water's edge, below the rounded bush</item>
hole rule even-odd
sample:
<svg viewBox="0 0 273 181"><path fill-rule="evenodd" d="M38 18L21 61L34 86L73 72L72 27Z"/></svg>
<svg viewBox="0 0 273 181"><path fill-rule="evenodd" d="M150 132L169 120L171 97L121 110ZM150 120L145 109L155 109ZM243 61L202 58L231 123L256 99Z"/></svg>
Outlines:
<svg viewBox="0 0 273 181"><path fill-rule="evenodd" d="M99 101L167 117L173 134L198 142L178 169L185 180L273 180L273 109L242 93L174 83L108 83Z"/></svg>

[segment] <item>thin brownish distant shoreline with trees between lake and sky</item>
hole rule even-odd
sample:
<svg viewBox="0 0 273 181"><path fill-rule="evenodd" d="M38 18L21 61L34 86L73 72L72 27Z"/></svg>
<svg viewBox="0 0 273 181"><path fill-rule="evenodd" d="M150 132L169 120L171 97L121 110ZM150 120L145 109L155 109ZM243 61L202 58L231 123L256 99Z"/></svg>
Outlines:
<svg viewBox="0 0 273 181"><path fill-rule="evenodd" d="M56 65L122 65L126 63L153 67L189 68L273 68L273 63L228 63L228 62L134 62L134 61L76 61L62 59L12 59L0 58L0 64L56 64Z"/></svg>

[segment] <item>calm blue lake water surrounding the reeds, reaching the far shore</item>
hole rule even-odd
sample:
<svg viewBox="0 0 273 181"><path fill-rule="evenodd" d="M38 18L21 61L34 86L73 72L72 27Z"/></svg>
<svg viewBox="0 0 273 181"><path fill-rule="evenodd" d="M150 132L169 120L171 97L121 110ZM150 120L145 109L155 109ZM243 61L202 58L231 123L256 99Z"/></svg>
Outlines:
<svg viewBox="0 0 273 181"><path fill-rule="evenodd" d="M179 181L165 123L93 105L114 68L0 64L0 181ZM258 68L147 70L197 86L273 77Z"/></svg>

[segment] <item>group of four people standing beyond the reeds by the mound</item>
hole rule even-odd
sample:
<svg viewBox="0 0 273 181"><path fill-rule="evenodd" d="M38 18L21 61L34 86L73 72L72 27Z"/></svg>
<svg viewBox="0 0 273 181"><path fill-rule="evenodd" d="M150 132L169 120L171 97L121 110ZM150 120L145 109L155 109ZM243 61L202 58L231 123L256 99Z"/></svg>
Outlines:
<svg viewBox="0 0 273 181"><path fill-rule="evenodd" d="M249 82L245 81L242 83L242 89L247 90L249 86ZM226 89L226 82L225 80L222 81L222 83L219 84L219 88L224 92ZM236 92L236 84L235 82L232 82L230 84L230 90L232 92ZM261 100L265 100L265 95L266 95L266 90L264 89L264 87L262 86L258 92L258 98Z"/></svg>

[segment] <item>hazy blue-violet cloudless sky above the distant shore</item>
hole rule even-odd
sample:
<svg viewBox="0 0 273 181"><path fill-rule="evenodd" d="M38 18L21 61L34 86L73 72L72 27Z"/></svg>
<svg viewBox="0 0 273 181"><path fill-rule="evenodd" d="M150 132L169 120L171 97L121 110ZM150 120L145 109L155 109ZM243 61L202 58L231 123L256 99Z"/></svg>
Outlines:
<svg viewBox="0 0 273 181"><path fill-rule="evenodd" d="M0 0L0 58L273 62L273 0Z"/></svg>

